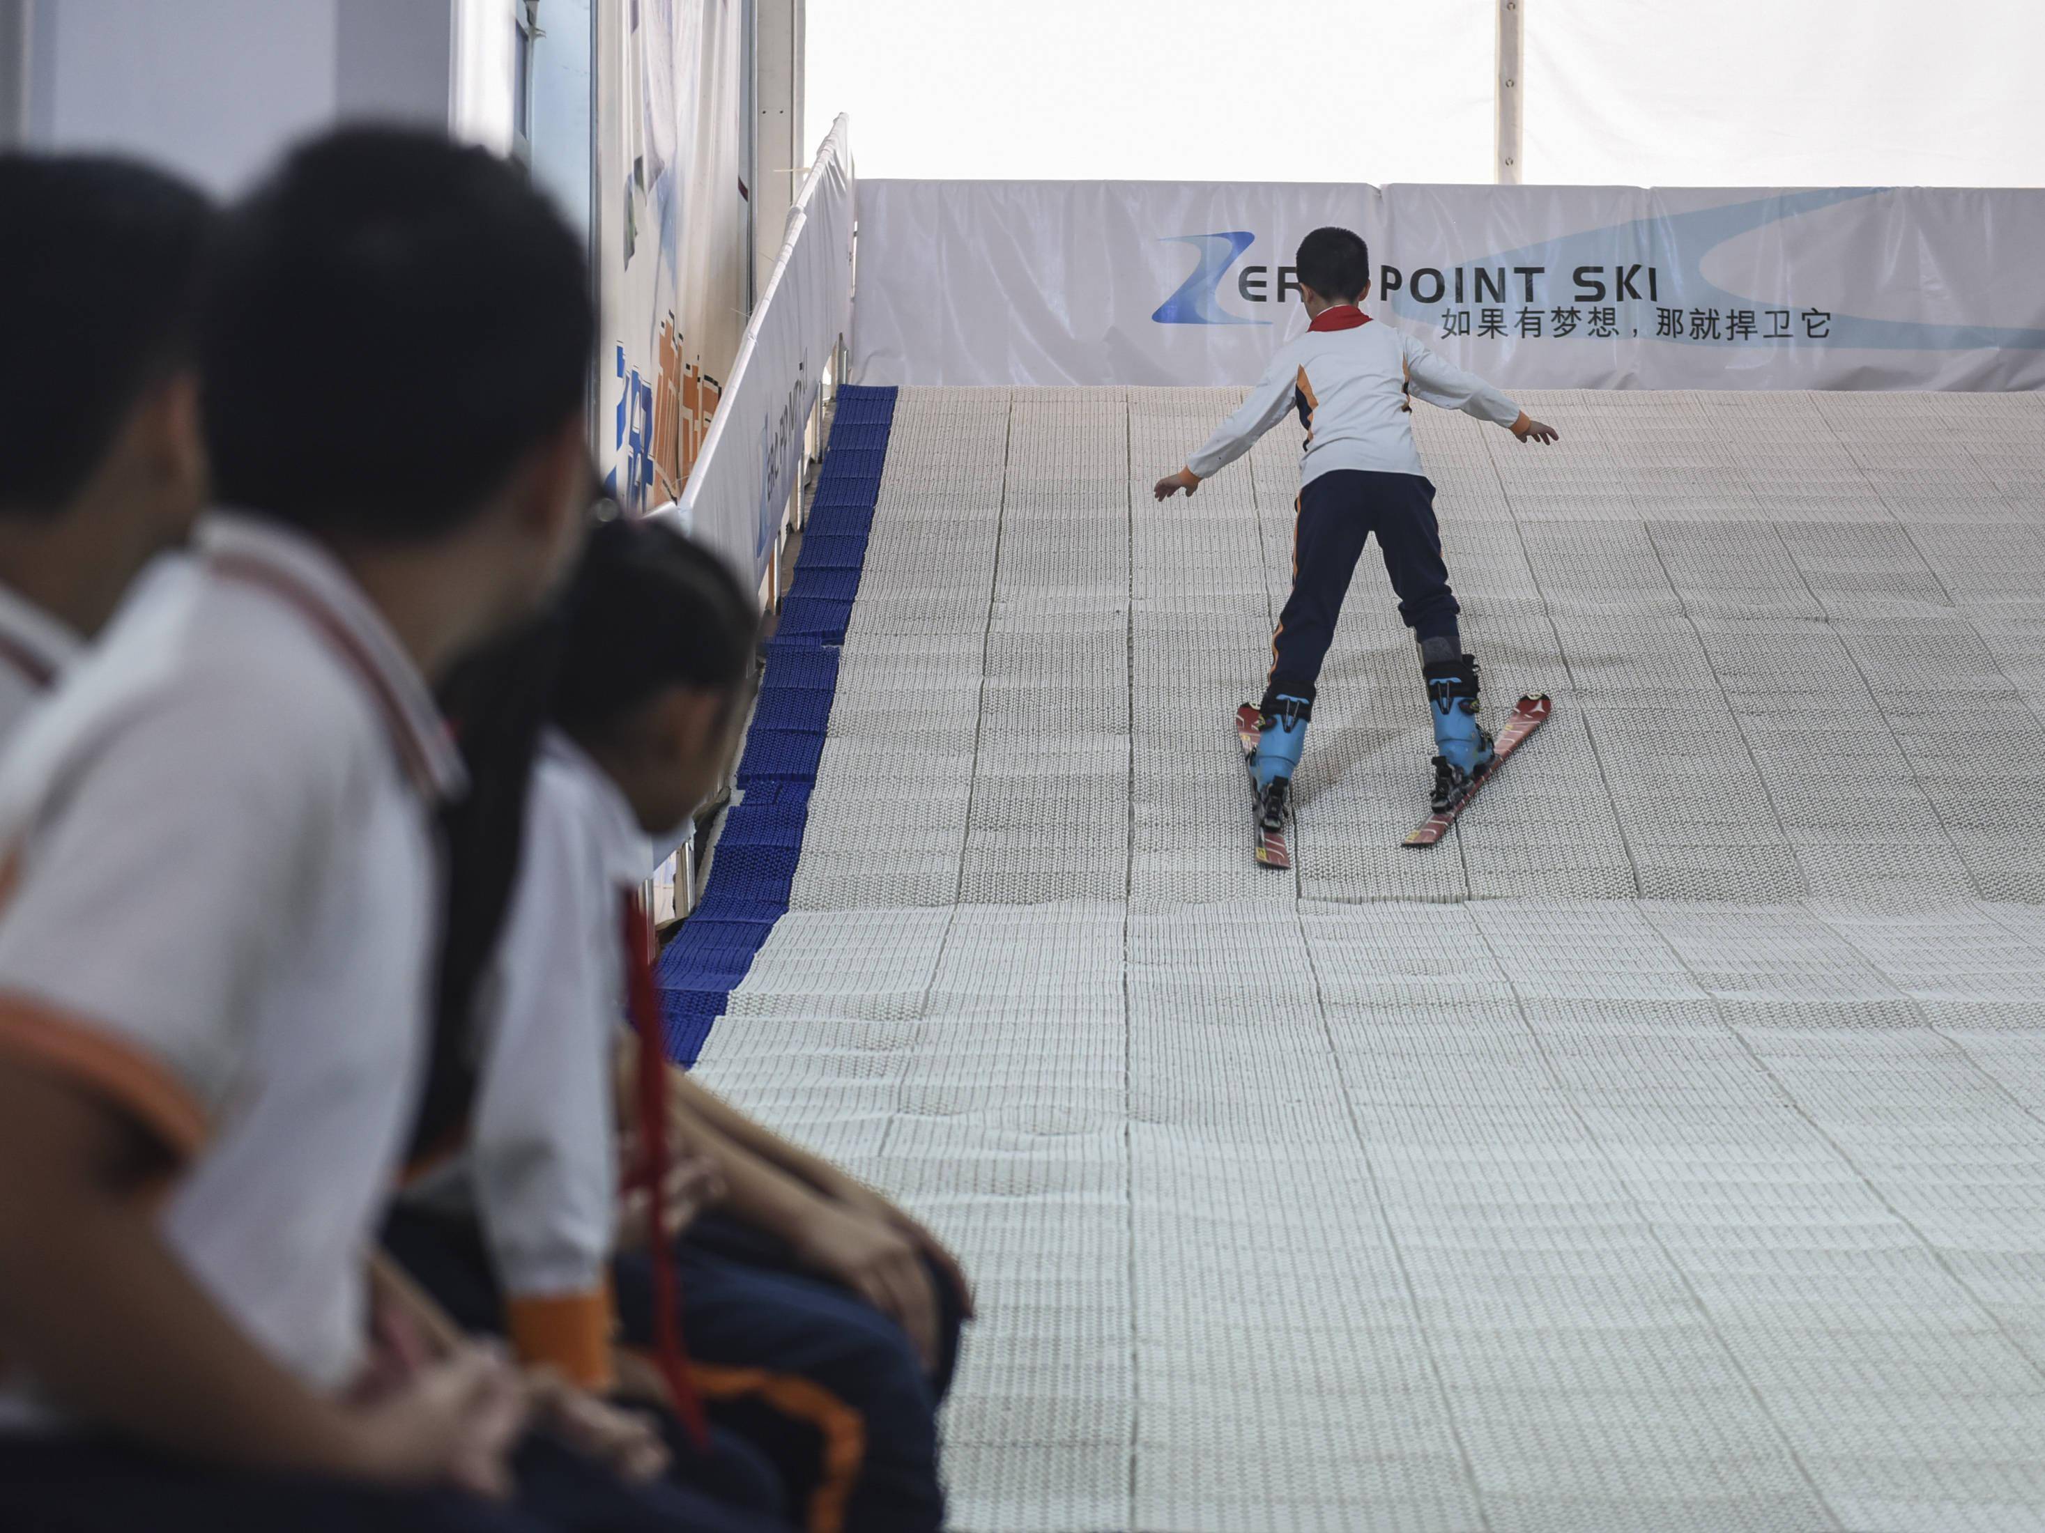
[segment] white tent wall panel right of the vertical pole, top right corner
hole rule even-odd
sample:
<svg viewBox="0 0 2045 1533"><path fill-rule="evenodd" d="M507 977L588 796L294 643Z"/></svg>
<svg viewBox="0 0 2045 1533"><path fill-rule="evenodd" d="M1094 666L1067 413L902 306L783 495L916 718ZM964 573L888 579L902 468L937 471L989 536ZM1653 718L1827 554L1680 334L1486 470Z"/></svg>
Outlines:
<svg viewBox="0 0 2045 1533"><path fill-rule="evenodd" d="M1524 180L2045 186L2035 0L1521 0Z"/></svg>

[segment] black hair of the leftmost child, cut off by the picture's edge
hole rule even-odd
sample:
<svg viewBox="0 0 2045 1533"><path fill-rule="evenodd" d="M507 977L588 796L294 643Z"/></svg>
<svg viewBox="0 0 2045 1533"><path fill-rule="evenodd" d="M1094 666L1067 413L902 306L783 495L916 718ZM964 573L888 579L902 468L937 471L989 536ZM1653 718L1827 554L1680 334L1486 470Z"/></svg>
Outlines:
<svg viewBox="0 0 2045 1533"><path fill-rule="evenodd" d="M100 155L0 153L0 509L55 515L190 364L213 204Z"/></svg>

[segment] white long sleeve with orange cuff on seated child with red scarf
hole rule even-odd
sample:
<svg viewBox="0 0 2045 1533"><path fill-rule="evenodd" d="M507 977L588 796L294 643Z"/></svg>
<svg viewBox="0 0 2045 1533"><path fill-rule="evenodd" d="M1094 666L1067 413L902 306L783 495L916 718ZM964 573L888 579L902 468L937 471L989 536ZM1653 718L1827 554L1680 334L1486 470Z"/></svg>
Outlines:
<svg viewBox="0 0 2045 1533"><path fill-rule="evenodd" d="M468 1145L415 1194L476 1210L519 1355L591 1386L607 1382L614 1331L624 918L652 865L618 785L548 730L517 887L479 995Z"/></svg>

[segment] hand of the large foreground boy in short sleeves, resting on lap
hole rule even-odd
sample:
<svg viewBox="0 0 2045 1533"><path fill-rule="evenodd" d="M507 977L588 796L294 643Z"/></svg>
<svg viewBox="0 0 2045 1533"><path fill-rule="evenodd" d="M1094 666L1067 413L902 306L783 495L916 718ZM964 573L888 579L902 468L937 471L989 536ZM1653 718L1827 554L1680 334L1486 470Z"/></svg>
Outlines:
<svg viewBox="0 0 2045 1533"><path fill-rule="evenodd" d="M517 1369L495 1349L464 1347L354 1412L354 1468L384 1484L452 1484L501 1500L526 1410Z"/></svg>

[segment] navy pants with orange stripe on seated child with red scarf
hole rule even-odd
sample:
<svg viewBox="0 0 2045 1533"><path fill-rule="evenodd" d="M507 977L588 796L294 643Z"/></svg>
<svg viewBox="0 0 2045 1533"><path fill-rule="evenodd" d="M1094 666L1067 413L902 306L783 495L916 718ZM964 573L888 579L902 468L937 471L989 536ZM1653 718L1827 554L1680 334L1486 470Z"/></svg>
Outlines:
<svg viewBox="0 0 2045 1533"><path fill-rule="evenodd" d="M937 1406L951 1388L959 1296L930 1265L935 1372L902 1327L857 1294L800 1271L777 1241L730 1218L695 1220L677 1243L681 1329L710 1419L761 1447L802 1527L939 1533ZM626 1339L652 1333L642 1255L614 1263Z"/></svg>

